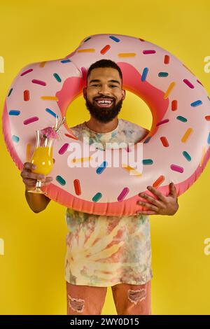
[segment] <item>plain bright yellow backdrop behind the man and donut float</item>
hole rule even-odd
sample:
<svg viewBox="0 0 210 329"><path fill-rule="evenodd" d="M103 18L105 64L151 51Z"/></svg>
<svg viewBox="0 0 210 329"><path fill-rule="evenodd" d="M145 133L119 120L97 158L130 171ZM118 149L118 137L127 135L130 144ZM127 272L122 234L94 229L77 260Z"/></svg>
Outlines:
<svg viewBox="0 0 210 329"><path fill-rule="evenodd" d="M26 64L65 57L90 34L126 34L169 50L204 83L210 94L207 0L1 1L0 108L13 78ZM88 120L82 97L69 106L69 126ZM144 102L127 92L120 118L151 127ZM66 314L65 209L50 202L34 214L1 136L0 314ZM175 216L151 216L153 314L209 314L209 174L179 198ZM116 314L111 289L102 314Z"/></svg>

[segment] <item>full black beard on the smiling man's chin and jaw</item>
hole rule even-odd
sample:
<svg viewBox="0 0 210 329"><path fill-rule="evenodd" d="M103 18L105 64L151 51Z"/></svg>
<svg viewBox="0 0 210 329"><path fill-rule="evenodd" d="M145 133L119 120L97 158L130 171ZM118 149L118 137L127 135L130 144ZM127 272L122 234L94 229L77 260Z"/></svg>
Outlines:
<svg viewBox="0 0 210 329"><path fill-rule="evenodd" d="M94 106L94 104L89 102L87 98L85 105L93 118L101 123L109 123L109 121L118 116L118 113L120 112L120 109L123 105L123 99L121 99L117 104L116 100L113 99L113 104L109 109Z"/></svg>

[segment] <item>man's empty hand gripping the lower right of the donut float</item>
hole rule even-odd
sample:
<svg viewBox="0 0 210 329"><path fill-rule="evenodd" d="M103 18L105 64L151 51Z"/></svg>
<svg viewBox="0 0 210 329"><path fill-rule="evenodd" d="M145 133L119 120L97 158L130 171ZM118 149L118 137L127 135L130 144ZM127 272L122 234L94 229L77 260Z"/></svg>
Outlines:
<svg viewBox="0 0 210 329"><path fill-rule="evenodd" d="M148 202L138 201L137 204L140 204L143 207L146 207L146 211L137 211L136 214L144 215L168 215L172 216L176 214L176 211L179 209L178 198L176 194L176 187L174 183L169 184L169 195L165 197L160 191L152 186L148 186L148 190L158 197L158 200L154 197L147 195L146 193L139 193L139 197L143 197Z"/></svg>

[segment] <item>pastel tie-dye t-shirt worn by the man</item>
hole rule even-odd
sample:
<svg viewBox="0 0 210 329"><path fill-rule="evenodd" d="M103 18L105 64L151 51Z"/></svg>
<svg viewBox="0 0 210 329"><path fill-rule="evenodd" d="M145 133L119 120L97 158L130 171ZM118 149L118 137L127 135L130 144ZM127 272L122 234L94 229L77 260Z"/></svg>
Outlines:
<svg viewBox="0 0 210 329"><path fill-rule="evenodd" d="M148 130L119 119L112 132L97 133L85 123L72 127L78 139L99 142L132 143L143 139ZM150 281L151 233L149 217L99 216L73 209L66 210L65 279L85 286L114 286L118 283L140 285Z"/></svg>

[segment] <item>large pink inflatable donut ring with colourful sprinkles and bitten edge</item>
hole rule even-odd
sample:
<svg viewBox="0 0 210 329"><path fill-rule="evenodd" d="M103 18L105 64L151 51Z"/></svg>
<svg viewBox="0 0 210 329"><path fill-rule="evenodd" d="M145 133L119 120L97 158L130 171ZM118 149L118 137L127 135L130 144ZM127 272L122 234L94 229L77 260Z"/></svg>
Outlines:
<svg viewBox="0 0 210 329"><path fill-rule="evenodd" d="M106 162L98 168L69 167L69 147L76 143L83 149L84 144L64 124L62 139L53 150L50 176L54 180L43 189L50 199L77 211L132 215L142 209L137 201L140 192L148 193L147 186L167 195L173 181L181 195L209 160L209 97L200 80L167 50L141 38L97 34L85 38L62 59L25 66L8 90L3 135L21 170L33 151L35 131L53 126L56 115L65 116L85 87L89 66L104 58L120 66L123 87L144 99L153 114L151 131L143 141L143 171L134 175L130 174L132 167L123 163L109 167ZM136 151L138 144L131 146L130 152Z"/></svg>

